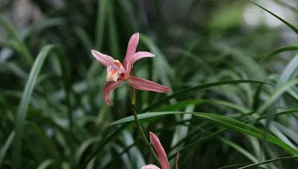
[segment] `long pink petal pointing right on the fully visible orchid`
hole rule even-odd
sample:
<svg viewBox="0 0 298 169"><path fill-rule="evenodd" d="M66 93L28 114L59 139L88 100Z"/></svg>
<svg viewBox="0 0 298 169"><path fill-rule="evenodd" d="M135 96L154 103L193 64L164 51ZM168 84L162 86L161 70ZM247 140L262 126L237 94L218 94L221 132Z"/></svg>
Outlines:
<svg viewBox="0 0 298 169"><path fill-rule="evenodd" d="M140 89L140 90L149 90L149 91L156 91L156 92L169 92L171 89L168 87L156 84L155 82L148 81L146 79L137 78L137 77L128 77L126 81L129 85Z"/></svg>

